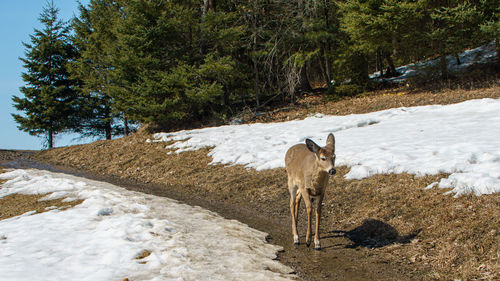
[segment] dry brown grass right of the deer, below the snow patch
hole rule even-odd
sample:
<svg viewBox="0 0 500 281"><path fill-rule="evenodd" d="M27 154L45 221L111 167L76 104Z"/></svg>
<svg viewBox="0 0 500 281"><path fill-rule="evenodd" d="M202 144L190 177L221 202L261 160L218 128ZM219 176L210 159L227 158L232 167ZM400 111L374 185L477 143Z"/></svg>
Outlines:
<svg viewBox="0 0 500 281"><path fill-rule="evenodd" d="M380 252L393 262L429 268L425 279L500 277L498 195L453 198L442 189L423 189L444 175L391 174L346 181L341 175L347 169L341 170L327 194L327 220L332 224L350 230L373 218L391 226L397 236L376 235L373 246L377 246L377 239L392 240L390 246L382 243L387 247L381 247ZM414 234L415 240L404 239Z"/></svg>

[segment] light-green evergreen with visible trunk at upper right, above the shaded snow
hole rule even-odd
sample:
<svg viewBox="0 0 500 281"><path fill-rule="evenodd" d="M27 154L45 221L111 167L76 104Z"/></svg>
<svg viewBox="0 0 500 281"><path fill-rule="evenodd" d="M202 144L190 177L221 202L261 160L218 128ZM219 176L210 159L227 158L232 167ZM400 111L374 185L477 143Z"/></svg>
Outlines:
<svg viewBox="0 0 500 281"><path fill-rule="evenodd" d="M376 58L382 76L397 75L393 56L422 41L422 16L414 1L368 0L339 2L343 30L352 51ZM384 60L387 71L384 74Z"/></svg>

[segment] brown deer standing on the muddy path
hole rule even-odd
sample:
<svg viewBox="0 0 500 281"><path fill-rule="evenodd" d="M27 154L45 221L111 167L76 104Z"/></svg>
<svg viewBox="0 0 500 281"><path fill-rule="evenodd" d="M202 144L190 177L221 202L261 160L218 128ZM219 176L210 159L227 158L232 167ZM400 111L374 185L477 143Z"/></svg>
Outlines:
<svg viewBox="0 0 500 281"><path fill-rule="evenodd" d="M296 144L288 149L285 155L285 167L290 192L290 213L292 215L292 233L294 245L299 245L297 219L301 198L304 198L307 212L306 245L311 244L311 212L313 199L316 210L316 232L314 248L321 250L319 225L321 204L325 196L326 185L330 176L335 175L335 137L329 134L326 146L320 147L311 139L305 144Z"/></svg>

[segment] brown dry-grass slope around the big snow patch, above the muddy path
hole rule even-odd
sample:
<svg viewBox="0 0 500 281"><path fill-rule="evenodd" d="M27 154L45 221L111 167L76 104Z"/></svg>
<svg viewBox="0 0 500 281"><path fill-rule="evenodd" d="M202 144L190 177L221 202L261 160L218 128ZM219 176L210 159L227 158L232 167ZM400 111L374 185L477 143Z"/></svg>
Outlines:
<svg viewBox="0 0 500 281"><path fill-rule="evenodd" d="M483 97L500 97L500 86L473 91L375 93L340 102L307 97L294 108L253 121L283 121L315 112L364 113ZM38 157L94 173L162 184L164 188L196 193L235 208L250 206L288 222L284 169L257 172L241 166L209 166L209 149L168 155L165 143L146 143L149 137L139 132L113 141L53 149ZM348 181L343 179L348 168L340 167L338 171L324 202L322 237L347 232L350 243L362 255L409 265L420 272L418 279L500 278L498 194L453 198L444 195L444 190L423 189L444 175L376 175Z"/></svg>

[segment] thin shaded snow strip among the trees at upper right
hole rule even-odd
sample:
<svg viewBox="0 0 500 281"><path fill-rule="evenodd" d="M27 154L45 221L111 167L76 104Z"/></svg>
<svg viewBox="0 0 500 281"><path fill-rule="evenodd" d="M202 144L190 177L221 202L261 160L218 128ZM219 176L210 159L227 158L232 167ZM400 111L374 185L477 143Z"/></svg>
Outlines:
<svg viewBox="0 0 500 281"><path fill-rule="evenodd" d="M448 70L454 73L454 72L464 71L473 64L492 62L496 56L497 53L495 50L495 41L493 41L489 44L474 49L466 50L458 54L458 57L460 59L460 65L457 64L455 56L446 56L446 61L448 62ZM401 75L392 78L383 78L383 80L394 83L404 82L408 78L416 76L422 71L425 71L426 68L437 67L438 60L439 59L427 60L396 67L396 71L398 73L401 73ZM378 79L379 77L380 77L380 72L375 72L370 75L370 78L372 79L374 78Z"/></svg>

